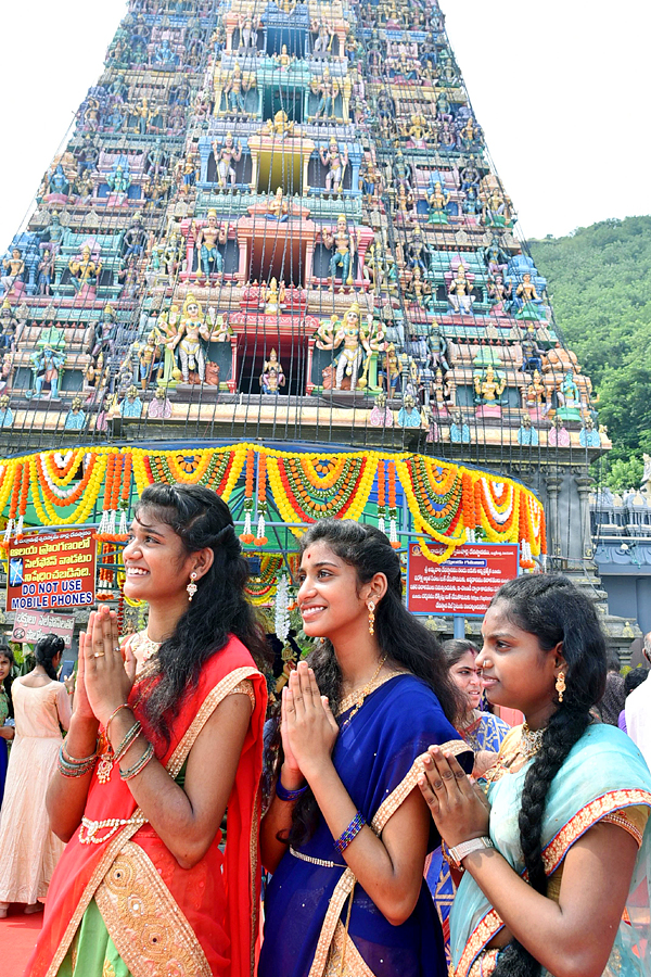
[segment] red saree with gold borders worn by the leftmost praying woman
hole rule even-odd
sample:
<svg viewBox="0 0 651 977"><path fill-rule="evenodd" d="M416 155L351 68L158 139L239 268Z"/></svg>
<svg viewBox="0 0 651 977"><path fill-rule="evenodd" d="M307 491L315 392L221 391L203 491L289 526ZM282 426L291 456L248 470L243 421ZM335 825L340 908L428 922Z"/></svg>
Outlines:
<svg viewBox="0 0 651 977"><path fill-rule="evenodd" d="M228 801L226 853L219 849L218 832L204 858L192 868L181 868L137 808L118 764L107 784L93 775L85 817L104 826L94 832L80 826L68 842L25 977L55 977L91 900L133 977L251 977L258 929L257 838L267 693L264 676L241 642L231 637L212 656L196 688L180 703L169 747L154 746L176 778L207 720L244 680L253 684L255 708ZM142 719L138 699L139 683L129 703Z"/></svg>

